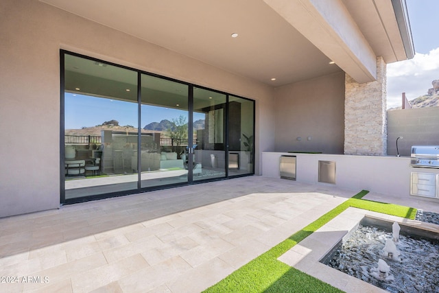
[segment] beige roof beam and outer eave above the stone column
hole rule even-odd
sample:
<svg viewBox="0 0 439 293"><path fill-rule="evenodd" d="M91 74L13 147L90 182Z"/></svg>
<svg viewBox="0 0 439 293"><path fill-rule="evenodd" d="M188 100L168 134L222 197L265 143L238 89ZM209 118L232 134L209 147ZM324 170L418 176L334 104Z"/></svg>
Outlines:
<svg viewBox="0 0 439 293"><path fill-rule="evenodd" d="M264 1L359 83L377 78L377 56L414 56L403 0Z"/></svg>

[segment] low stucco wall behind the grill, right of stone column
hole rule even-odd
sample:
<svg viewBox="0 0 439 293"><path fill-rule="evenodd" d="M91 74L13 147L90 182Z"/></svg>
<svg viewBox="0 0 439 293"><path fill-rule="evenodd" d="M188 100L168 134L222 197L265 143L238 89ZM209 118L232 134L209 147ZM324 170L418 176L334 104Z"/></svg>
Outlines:
<svg viewBox="0 0 439 293"><path fill-rule="evenodd" d="M439 107L389 110L388 148L396 155L396 138L401 156L410 156L412 145L439 145Z"/></svg>

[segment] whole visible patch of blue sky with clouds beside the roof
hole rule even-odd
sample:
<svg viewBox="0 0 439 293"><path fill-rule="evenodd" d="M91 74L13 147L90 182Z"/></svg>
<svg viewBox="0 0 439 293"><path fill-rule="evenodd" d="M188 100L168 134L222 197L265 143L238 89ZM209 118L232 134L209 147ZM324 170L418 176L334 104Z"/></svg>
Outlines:
<svg viewBox="0 0 439 293"><path fill-rule="evenodd" d="M391 63L387 67L387 106L401 106L401 95L415 99L439 80L438 0L406 0L412 28L413 59Z"/></svg>

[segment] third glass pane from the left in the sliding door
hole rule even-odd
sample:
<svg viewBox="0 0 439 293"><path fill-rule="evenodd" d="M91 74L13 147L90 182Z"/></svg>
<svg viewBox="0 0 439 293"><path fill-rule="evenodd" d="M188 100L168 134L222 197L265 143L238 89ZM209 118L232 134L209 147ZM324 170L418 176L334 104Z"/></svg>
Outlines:
<svg viewBox="0 0 439 293"><path fill-rule="evenodd" d="M193 180L226 176L226 95L193 89Z"/></svg>

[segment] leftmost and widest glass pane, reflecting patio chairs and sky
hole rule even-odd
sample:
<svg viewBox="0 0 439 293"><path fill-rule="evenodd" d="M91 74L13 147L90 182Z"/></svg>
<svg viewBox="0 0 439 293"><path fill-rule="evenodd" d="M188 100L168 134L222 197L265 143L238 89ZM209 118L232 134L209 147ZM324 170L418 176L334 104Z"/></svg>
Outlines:
<svg viewBox="0 0 439 293"><path fill-rule="evenodd" d="M137 72L64 55L65 198L137 189Z"/></svg>

